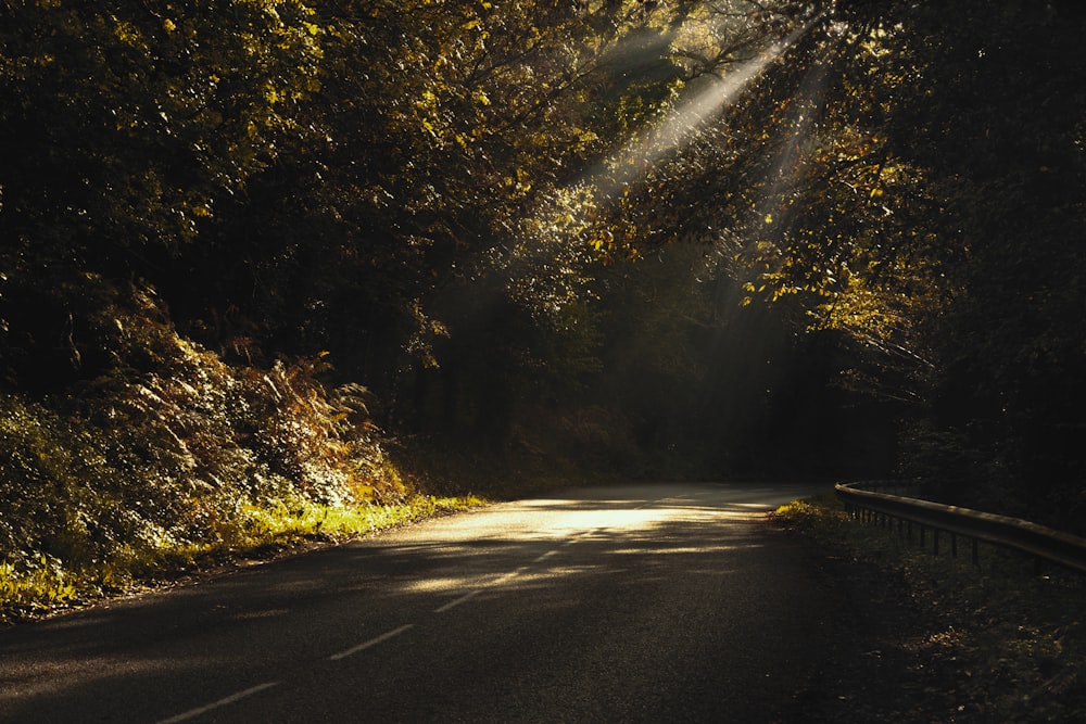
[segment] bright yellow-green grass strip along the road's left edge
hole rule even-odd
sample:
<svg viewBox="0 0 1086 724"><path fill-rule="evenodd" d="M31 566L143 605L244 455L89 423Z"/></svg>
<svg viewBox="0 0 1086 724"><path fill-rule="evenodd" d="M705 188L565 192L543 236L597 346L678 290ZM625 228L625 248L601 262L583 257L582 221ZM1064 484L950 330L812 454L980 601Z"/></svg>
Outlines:
<svg viewBox="0 0 1086 724"><path fill-rule="evenodd" d="M333 507L306 500L274 509L248 508L242 523L194 546L162 542L153 551L123 548L110 560L71 570L41 556L31 566L0 562L0 623L39 618L215 570L266 559L314 543L342 543L412 522L485 505L473 496L414 495L399 505Z"/></svg>

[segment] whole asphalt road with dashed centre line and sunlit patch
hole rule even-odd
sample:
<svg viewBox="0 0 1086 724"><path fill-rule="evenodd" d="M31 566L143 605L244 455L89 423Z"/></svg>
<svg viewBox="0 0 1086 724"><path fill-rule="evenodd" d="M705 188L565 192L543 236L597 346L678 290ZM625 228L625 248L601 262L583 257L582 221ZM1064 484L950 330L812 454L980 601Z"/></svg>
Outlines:
<svg viewBox="0 0 1086 724"><path fill-rule="evenodd" d="M774 722L832 593L800 485L568 491L0 632L2 722Z"/></svg>

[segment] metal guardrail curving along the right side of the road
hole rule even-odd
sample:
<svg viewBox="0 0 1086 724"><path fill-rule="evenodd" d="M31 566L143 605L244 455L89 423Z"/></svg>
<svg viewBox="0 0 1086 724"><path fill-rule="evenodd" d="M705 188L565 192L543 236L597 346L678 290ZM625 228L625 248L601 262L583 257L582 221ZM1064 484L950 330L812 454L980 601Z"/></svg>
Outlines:
<svg viewBox="0 0 1086 724"><path fill-rule="evenodd" d="M940 534L950 537L950 552L958 555L958 536L972 543L973 562L978 563L977 542L1011 548L1033 556L1036 561L1051 561L1086 573L1086 538L1038 525L1020 518L996 516L969 508L940 505L918 498L876 493L863 487L898 487L900 483L839 483L837 497L853 518L871 520L893 526L912 538L915 524L920 529L920 544L926 545L932 533L935 554L939 552Z"/></svg>

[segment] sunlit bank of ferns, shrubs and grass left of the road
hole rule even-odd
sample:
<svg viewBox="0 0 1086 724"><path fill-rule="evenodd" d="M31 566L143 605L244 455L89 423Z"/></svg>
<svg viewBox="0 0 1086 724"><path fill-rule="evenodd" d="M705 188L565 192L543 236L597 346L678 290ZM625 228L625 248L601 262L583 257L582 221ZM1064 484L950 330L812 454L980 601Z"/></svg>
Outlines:
<svg viewBox="0 0 1086 724"><path fill-rule="evenodd" d="M81 322L93 378L0 392L0 617L478 503L405 481L368 393L326 389L321 355L230 365L161 306L118 292Z"/></svg>

